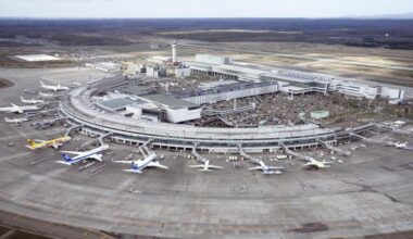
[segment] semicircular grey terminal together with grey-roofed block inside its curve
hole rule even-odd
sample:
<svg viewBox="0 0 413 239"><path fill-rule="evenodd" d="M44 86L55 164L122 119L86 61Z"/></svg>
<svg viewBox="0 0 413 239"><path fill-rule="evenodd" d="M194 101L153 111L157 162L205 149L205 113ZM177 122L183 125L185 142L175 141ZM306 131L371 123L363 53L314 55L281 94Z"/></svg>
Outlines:
<svg viewBox="0 0 413 239"><path fill-rule="evenodd" d="M76 88L65 95L60 105L61 112L73 125L83 125L82 130L88 136L111 133L110 138L115 142L142 144L151 141L154 148L174 150L191 150L197 147L198 150L209 152L238 152L242 147L247 152L273 152L283 146L304 149L323 143L336 144L339 139L349 135L341 128L322 128L316 124L262 125L249 128L175 124L174 121L186 120L183 117L188 117L188 115L189 117L198 116L201 109L197 103L164 95L142 95L133 100L116 98L116 100L99 103L93 101L93 97L102 91L127 89L127 85L134 88L134 83L112 78ZM128 116L130 113L127 110L128 106L138 106L142 111L148 111L150 104L164 108L167 114L171 114L167 116L170 123L141 117L139 112L136 113L137 117ZM103 110L102 106L112 110ZM363 127L352 129L352 131L363 130Z"/></svg>

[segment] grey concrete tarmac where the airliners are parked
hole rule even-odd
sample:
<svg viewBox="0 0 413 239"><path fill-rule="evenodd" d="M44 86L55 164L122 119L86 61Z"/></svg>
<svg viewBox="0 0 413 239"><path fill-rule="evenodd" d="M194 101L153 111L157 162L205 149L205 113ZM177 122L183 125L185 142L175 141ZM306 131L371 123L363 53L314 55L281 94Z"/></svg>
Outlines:
<svg viewBox="0 0 413 239"><path fill-rule="evenodd" d="M0 78L15 84L0 89L2 104L18 102L24 89L37 88L47 71L52 70L0 70ZM70 72L68 78L76 77L75 70ZM85 80L88 74L79 71ZM110 143L105 162L82 172L77 171L82 165L53 162L61 160L54 150L33 152L24 147L27 137L43 139L62 131L0 123L0 210L112 235L161 238L374 238L393 232L412 237L412 151L355 142L352 146L360 147L352 156L335 155L343 163L320 171L303 171L297 160L264 159L273 165L290 162L293 166L281 175L247 171L248 162L234 168L224 154L204 154L224 169L198 172L188 167L197 162L187 153L157 151L170 169L148 168L135 175L122 172L128 165L111 162L123 160L132 147ZM413 142L413 136L387 135ZM88 140L74 136L78 140L63 150L75 150ZM101 173L90 172L99 167Z"/></svg>

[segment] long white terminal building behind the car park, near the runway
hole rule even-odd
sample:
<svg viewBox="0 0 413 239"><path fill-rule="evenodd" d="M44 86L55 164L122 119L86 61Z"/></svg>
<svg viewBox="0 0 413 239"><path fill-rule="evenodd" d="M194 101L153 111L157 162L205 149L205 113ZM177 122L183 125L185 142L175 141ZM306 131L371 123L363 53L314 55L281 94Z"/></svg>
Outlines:
<svg viewBox="0 0 413 239"><path fill-rule="evenodd" d="M347 96L376 99L384 97L402 100L404 91L380 86L354 83L352 79L318 73L306 73L284 68L268 68L255 64L235 63L227 56L197 54L195 61L185 62L191 74L208 74L241 81L276 81L278 90L291 95L309 92L340 92Z"/></svg>

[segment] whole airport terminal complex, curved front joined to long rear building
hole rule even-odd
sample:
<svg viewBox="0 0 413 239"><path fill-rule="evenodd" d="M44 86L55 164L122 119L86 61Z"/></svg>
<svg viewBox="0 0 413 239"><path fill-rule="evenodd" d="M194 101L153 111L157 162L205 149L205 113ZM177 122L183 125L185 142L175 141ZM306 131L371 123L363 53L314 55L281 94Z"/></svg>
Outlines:
<svg viewBox="0 0 413 239"><path fill-rule="evenodd" d="M211 109L204 108L211 103L275 92L291 97L339 92L372 100L378 97L403 98L403 90L399 89L367 86L325 74L237 63L227 56L197 54L195 61L184 64L189 67L191 75L203 74L221 79L201 83L196 89L175 92L155 91L140 85L139 79L102 79L65 95L61 111L74 125L83 125L85 134L93 136L111 133L112 140L122 143L142 144L151 141L153 147L162 149L191 150L197 146L210 152L237 152L242 147L251 152L272 152L283 147L303 149L336 144L350 134L373 126L347 131L339 127L324 128L310 122L223 128L180 123L201 118L203 110L214 114Z"/></svg>

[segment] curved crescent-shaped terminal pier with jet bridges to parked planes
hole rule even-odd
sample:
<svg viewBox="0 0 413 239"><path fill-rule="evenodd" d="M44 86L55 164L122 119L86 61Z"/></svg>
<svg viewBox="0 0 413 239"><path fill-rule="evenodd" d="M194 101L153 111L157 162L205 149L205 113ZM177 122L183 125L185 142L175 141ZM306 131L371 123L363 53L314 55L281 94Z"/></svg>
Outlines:
<svg viewBox="0 0 413 239"><path fill-rule="evenodd" d="M141 144L151 139L152 146L161 149L191 150L193 142L197 142L201 151L237 152L238 144L241 143L245 151L273 152L281 144L292 149L336 144L338 136L340 139L349 136L340 133L340 128L321 128L316 124L213 128L148 122L102 111L90 101L97 93L127 84L132 83L111 78L74 89L64 97L61 112L73 124L83 125L83 131L87 135L112 133L112 140L127 144ZM364 129L371 127L367 125Z"/></svg>

